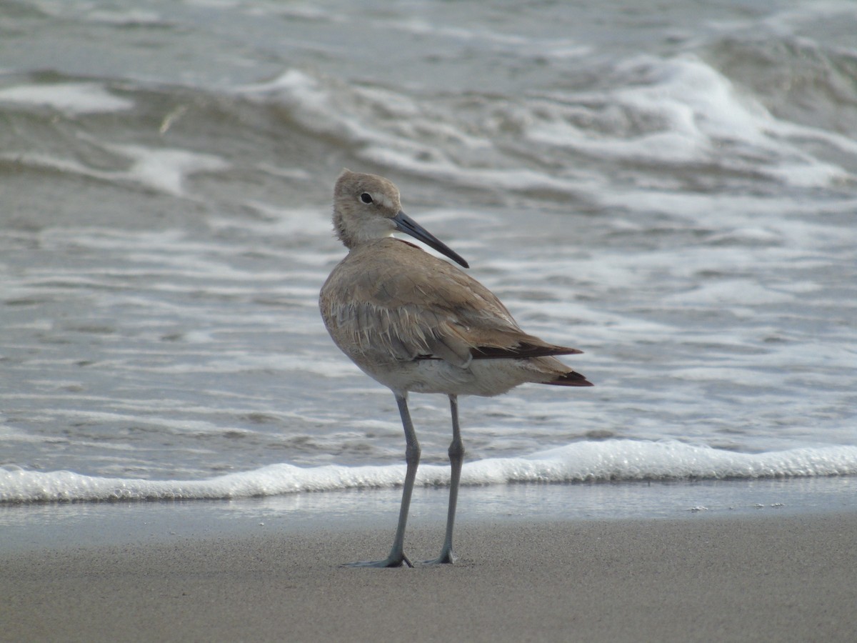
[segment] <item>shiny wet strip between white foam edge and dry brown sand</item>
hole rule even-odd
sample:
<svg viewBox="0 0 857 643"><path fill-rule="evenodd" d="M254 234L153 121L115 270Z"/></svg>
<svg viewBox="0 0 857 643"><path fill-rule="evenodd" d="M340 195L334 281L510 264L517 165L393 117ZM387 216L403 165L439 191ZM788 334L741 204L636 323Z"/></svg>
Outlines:
<svg viewBox="0 0 857 643"><path fill-rule="evenodd" d="M446 518L448 489L417 487L408 535ZM0 505L0 558L33 550L170 543L388 529L397 488L297 493L234 500L45 502ZM857 477L494 484L462 487L458 525L591 520L707 520L848 512Z"/></svg>

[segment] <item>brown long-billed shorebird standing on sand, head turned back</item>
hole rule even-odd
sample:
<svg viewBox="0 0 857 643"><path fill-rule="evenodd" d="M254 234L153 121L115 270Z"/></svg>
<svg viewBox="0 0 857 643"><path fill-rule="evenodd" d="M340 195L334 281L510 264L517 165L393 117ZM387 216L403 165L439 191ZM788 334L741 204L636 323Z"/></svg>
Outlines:
<svg viewBox="0 0 857 643"><path fill-rule="evenodd" d="M333 342L368 376L393 391L405 428L405 484L389 556L357 567L413 567L405 556L405 524L417 477L420 445L408 412L408 394L440 393L452 411L452 467L446 536L440 556L452 563L452 526L464 444L458 395L492 396L524 382L592 386L554 355L554 346L524 333L500 299L448 261L393 237L405 232L462 267L445 243L402 212L399 189L384 177L345 170L333 189L333 228L348 255L321 288L319 305Z"/></svg>

